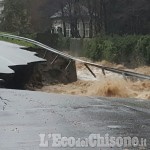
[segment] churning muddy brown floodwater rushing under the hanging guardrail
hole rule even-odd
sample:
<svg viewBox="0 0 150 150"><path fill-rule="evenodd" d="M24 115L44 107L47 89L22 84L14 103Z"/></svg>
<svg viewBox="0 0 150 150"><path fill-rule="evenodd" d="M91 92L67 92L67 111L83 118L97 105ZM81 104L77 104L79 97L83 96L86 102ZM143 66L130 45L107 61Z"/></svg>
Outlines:
<svg viewBox="0 0 150 150"><path fill-rule="evenodd" d="M125 69L123 65L111 64L106 61L97 62L104 66L111 66L118 69ZM91 67L96 74L94 78L83 64L77 63L78 81L67 85L57 84L44 86L41 90L44 92L82 95L82 96L106 96L121 98L150 99L150 81L149 80L131 80L124 78L112 72L106 71L103 75L101 69ZM150 67L144 66L136 68L134 72L150 75Z"/></svg>

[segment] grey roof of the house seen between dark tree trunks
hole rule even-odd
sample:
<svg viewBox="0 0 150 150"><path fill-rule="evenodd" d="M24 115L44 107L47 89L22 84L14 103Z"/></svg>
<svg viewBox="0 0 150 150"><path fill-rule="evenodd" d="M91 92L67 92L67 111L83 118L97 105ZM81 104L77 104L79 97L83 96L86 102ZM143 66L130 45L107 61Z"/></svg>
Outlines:
<svg viewBox="0 0 150 150"><path fill-rule="evenodd" d="M69 17L69 5L66 5L63 8L63 11L64 11L64 16ZM72 13L73 13L73 8L72 8ZM82 16L88 16L88 8L85 7L84 5L80 5L80 13L82 14ZM61 18L61 17L62 17L62 11L59 10L54 15L52 15L50 18L55 19L55 18Z"/></svg>

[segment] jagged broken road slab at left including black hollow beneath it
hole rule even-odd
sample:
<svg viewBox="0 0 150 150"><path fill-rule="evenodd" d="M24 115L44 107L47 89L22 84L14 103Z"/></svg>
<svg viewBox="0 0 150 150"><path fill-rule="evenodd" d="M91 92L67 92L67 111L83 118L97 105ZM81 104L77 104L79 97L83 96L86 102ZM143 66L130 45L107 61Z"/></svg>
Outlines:
<svg viewBox="0 0 150 150"><path fill-rule="evenodd" d="M0 80L0 87L25 89L34 77L35 66L46 61L37 57L36 52L23 48L25 47L0 41L0 79L3 80Z"/></svg>

